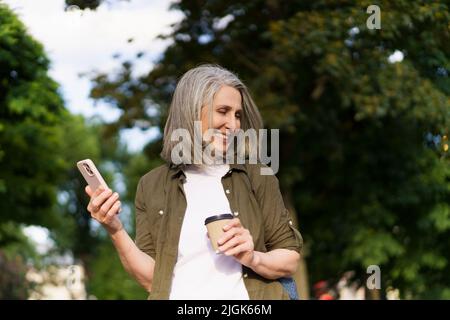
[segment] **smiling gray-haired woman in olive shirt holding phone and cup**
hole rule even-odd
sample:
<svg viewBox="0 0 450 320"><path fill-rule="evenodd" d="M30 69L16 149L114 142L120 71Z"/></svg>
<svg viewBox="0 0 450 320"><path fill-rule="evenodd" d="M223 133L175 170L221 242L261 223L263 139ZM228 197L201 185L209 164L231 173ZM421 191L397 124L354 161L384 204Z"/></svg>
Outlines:
<svg viewBox="0 0 450 320"><path fill-rule="evenodd" d="M179 155L174 132L184 129L186 141L193 141L195 121L201 121L201 150L210 143L214 156L226 152L230 134L262 127L236 75L212 65L191 69L180 79L170 106L161 153L166 164L138 184L136 241L117 216L117 193L86 187L88 211L109 232L125 269L150 299L288 299L277 279L296 271L302 238L292 226L277 178L261 175L261 164L191 164L194 150L174 161ZM216 134L207 135L209 129ZM204 220L227 212L235 218L224 227L217 254Z"/></svg>

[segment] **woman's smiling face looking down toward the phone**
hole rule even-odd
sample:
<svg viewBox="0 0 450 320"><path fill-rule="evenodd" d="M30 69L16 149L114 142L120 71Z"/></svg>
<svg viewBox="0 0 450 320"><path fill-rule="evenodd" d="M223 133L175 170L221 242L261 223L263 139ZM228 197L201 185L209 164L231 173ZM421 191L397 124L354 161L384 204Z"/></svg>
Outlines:
<svg viewBox="0 0 450 320"><path fill-rule="evenodd" d="M216 150L226 151L227 135L241 128L242 97L241 93L230 86L223 86L217 91L212 107L211 129L218 130L213 136L213 145ZM209 129L209 108L202 107L200 120L202 121L202 134Z"/></svg>

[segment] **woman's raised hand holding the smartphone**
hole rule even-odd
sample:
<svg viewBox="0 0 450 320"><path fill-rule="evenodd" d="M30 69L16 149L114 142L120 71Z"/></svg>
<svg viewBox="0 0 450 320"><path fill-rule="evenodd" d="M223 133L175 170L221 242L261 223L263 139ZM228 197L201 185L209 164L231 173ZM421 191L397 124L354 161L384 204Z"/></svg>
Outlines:
<svg viewBox="0 0 450 320"><path fill-rule="evenodd" d="M114 234L123 228L117 214L121 211L119 194L110 189L98 187L95 192L89 186L85 188L86 193L91 197L87 210L91 217L100 222L110 233Z"/></svg>

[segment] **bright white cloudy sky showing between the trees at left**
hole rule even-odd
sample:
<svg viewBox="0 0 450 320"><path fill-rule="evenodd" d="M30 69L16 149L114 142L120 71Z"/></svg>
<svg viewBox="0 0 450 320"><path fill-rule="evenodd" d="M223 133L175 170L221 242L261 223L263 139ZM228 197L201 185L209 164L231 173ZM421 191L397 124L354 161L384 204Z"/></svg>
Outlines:
<svg viewBox="0 0 450 320"><path fill-rule="evenodd" d="M107 0L97 10L64 10L64 0L0 0L6 3L25 24L28 32L44 45L51 61L50 76L60 84L66 107L73 114L99 116L114 121L120 116L106 104L94 106L89 99L91 83L80 73L112 73L121 59L145 52L136 65L135 74L148 72L169 44L155 39L170 31L170 24L181 19L181 13L169 11L169 0ZM128 39L133 42L128 43ZM128 149L139 152L159 131L124 130L122 140ZM45 253L51 246L47 229L29 226L24 233Z"/></svg>

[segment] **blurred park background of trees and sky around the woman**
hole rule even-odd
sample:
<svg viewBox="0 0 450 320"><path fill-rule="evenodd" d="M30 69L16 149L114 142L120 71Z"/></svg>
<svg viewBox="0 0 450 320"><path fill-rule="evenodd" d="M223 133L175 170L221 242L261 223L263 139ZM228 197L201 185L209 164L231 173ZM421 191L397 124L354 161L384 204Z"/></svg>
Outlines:
<svg viewBox="0 0 450 320"><path fill-rule="evenodd" d="M137 181L200 63L236 72L280 129L302 299L450 299L449 8L0 0L0 299L147 298L75 164L98 165L134 236Z"/></svg>

